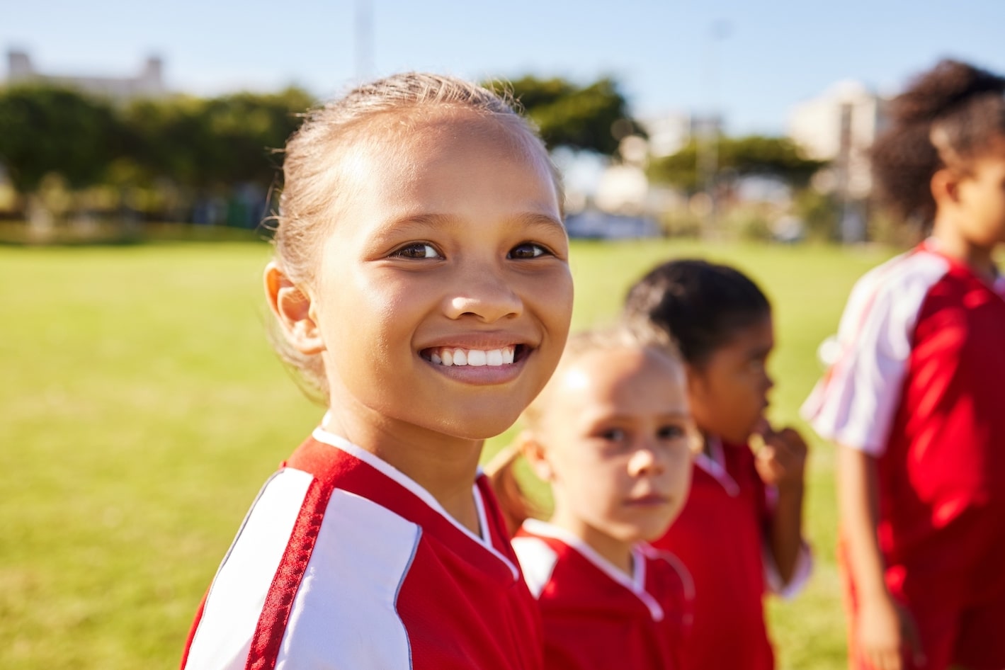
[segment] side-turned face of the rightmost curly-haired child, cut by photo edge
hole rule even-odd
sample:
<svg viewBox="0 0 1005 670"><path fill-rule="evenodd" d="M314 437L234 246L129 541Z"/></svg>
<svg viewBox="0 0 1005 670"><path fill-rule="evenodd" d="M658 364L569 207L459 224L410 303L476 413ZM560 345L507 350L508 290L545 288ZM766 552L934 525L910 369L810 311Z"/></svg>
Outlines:
<svg viewBox="0 0 1005 670"><path fill-rule="evenodd" d="M964 237L980 247L1005 242L1005 138L990 144L959 182L958 218Z"/></svg>

